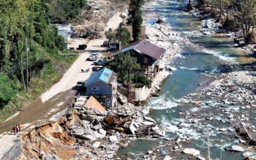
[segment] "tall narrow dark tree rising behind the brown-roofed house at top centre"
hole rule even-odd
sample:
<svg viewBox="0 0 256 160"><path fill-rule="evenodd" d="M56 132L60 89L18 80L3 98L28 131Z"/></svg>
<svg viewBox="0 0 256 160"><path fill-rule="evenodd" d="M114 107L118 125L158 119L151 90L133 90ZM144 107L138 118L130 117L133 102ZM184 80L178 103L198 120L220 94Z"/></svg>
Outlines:
<svg viewBox="0 0 256 160"><path fill-rule="evenodd" d="M134 41L139 41L141 36L141 25L143 24L143 12L141 7L144 0L130 0L128 24L132 24L132 37Z"/></svg>

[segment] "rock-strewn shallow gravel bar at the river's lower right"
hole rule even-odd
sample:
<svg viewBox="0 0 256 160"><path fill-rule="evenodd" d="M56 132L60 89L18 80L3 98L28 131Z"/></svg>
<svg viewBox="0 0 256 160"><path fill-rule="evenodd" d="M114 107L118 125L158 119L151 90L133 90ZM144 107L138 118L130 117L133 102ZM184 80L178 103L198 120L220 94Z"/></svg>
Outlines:
<svg viewBox="0 0 256 160"><path fill-rule="evenodd" d="M172 159L181 159L181 157L183 159L207 159L207 148L201 150L195 147L187 153L184 145L189 146L199 137L204 137L204 143L207 143L207 136L209 136L209 150L214 152L212 159L217 159L216 146L220 146L223 152L242 152L243 159L256 159L255 145L251 144L246 136L239 135L240 131L236 130L236 127L245 127L252 140L256 140L255 73L253 63L236 65L235 69L218 76L210 87L180 99L180 103L177 104L180 112L178 121L175 122L176 126L173 124L165 126L169 132L173 132L176 128L180 133L169 140L163 140L156 146L156 149L145 156L162 157L159 148L168 145L164 156ZM226 137L231 138L229 143L226 142ZM239 146L236 147L239 149L232 149L233 145Z"/></svg>

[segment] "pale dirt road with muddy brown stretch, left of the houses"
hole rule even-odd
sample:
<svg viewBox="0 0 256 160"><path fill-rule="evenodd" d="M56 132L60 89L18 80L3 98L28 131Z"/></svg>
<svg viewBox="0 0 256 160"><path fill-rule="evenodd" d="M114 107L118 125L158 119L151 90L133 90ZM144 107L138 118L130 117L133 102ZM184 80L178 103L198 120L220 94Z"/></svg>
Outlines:
<svg viewBox="0 0 256 160"><path fill-rule="evenodd" d="M119 23L121 23L119 15L119 12L113 15L107 23L105 30L108 30L108 28L118 28ZM92 62L86 61L87 57L92 52L98 52L100 53L99 55L102 55L105 48L100 47L100 45L106 40L103 35L103 38L89 41L86 52L79 55L75 63L64 73L63 78L57 84L53 85L41 97L25 107L23 111L13 116L12 119L0 123L0 133L3 133L0 135L0 159L4 159L9 149L15 145L17 135L10 135L13 125L20 122L27 128L33 127L36 124L39 125L40 122L47 121L53 114L63 110L68 105L75 95L75 91L72 88L76 85L76 82L87 80L92 73L92 71L81 73L81 69L92 68ZM8 145L2 145L5 143Z"/></svg>

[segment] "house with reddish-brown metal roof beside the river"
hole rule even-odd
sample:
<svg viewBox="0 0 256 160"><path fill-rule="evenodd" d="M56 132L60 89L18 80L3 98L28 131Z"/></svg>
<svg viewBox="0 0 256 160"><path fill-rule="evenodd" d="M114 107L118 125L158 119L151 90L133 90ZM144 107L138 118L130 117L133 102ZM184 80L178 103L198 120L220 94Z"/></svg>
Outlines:
<svg viewBox="0 0 256 160"><path fill-rule="evenodd" d="M165 51L150 41L141 40L121 48L118 54L128 53L135 57L145 74L153 78L160 71L160 61Z"/></svg>

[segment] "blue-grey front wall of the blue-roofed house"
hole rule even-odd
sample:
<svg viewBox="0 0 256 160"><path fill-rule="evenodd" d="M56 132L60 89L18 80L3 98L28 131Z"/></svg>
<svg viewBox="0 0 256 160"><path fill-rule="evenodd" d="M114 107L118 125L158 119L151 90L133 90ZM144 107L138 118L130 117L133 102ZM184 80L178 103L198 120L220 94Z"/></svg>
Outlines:
<svg viewBox="0 0 256 160"><path fill-rule="evenodd" d="M110 87L107 87L110 86ZM106 84L103 81L95 81L92 84L89 84L87 86L87 95L90 96L92 95L92 93L94 94L112 94L112 84Z"/></svg>

